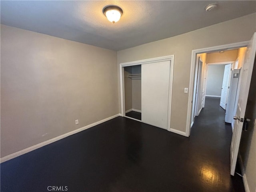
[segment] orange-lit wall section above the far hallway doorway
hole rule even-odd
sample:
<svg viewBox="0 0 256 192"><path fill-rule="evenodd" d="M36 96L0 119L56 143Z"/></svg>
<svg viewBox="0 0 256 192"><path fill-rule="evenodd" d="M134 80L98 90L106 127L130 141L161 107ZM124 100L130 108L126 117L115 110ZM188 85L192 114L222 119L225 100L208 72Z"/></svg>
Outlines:
<svg viewBox="0 0 256 192"><path fill-rule="evenodd" d="M209 53L207 54L207 63L219 63L235 61L237 58L238 49L224 51L224 53Z"/></svg>

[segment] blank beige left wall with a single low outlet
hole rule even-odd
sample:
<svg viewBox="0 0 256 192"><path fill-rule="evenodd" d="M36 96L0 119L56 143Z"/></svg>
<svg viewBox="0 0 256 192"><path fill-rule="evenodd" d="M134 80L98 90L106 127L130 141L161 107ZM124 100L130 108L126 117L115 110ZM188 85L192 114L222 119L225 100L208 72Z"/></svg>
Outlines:
<svg viewBox="0 0 256 192"><path fill-rule="evenodd" d="M118 114L116 60L112 50L1 25L1 157Z"/></svg>

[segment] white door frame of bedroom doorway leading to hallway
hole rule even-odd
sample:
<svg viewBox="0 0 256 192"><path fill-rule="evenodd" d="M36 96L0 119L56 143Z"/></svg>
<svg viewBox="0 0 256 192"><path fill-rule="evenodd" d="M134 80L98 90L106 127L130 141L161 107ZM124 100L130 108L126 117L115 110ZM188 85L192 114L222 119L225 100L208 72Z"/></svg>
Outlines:
<svg viewBox="0 0 256 192"><path fill-rule="evenodd" d="M210 52L216 52L216 51L222 51L222 50L228 50L228 49L236 49L236 48L246 47L248 46L248 44L249 44L249 41L244 41L244 42L192 50L191 66L190 66L190 81L189 81L189 90L191 91L188 92L188 110L187 110L187 120L186 120L186 136L187 137L190 136L190 130L191 130L191 115L192 115L192 103L193 103L193 94L194 94L193 88L194 88L194 80L195 80L195 72L196 72L195 71L196 54L210 53Z"/></svg>

